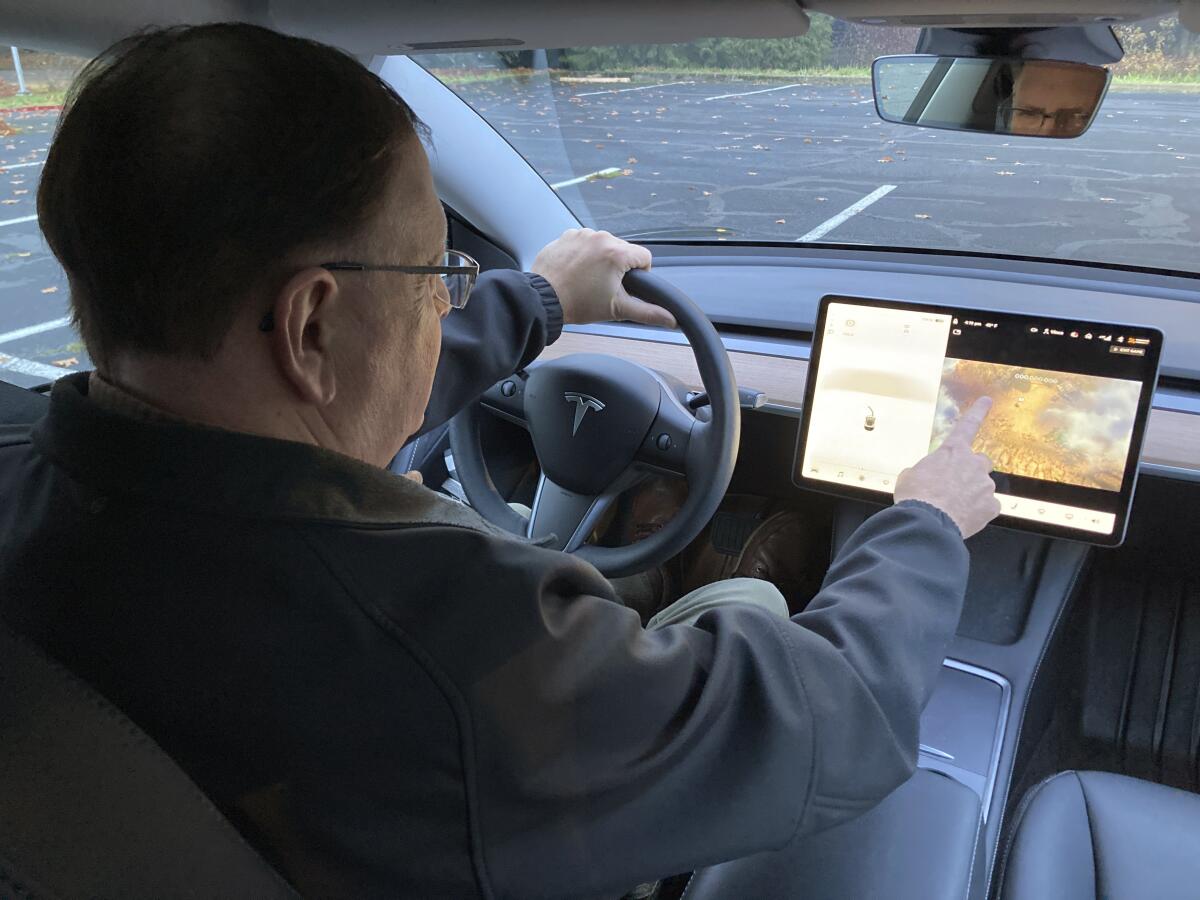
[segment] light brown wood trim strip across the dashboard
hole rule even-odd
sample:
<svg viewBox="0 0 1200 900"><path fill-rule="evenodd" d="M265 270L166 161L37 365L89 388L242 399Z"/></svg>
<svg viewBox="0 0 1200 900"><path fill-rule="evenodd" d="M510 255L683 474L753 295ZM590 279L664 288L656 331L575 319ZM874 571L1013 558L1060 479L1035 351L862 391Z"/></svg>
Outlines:
<svg viewBox="0 0 1200 900"><path fill-rule="evenodd" d="M569 353L611 353L673 376L690 386L700 386L696 360L685 344L564 331L541 358L558 359ZM804 404L804 382L809 372L805 360L733 350L730 362L738 384L762 391L768 402L793 409ZM1151 410L1141 458L1158 466L1200 470L1200 415L1172 409Z"/></svg>

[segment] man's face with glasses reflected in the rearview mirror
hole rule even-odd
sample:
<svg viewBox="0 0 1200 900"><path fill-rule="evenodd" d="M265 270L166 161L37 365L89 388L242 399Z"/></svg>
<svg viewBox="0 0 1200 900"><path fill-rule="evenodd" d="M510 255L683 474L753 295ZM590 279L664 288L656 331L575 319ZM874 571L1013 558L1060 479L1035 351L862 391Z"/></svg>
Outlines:
<svg viewBox="0 0 1200 900"><path fill-rule="evenodd" d="M1091 67L1055 62L1018 66L1009 130L1048 138L1081 134L1100 90L1103 83L1097 84L1097 71Z"/></svg>

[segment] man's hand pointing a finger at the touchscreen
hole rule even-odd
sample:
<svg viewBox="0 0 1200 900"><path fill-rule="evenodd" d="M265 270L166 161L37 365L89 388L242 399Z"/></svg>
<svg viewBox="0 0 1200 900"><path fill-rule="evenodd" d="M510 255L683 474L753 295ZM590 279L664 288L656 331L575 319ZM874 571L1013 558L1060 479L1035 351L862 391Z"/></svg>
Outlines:
<svg viewBox="0 0 1200 900"><path fill-rule="evenodd" d="M964 538L1000 515L991 460L971 451L991 398L980 397L962 414L942 445L896 476L895 502L920 500L954 520Z"/></svg>

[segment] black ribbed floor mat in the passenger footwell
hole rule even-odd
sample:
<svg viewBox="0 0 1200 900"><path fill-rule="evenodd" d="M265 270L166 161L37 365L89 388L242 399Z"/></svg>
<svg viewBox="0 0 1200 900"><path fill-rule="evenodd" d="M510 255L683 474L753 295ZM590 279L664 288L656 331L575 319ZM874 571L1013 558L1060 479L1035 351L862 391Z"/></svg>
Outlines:
<svg viewBox="0 0 1200 900"><path fill-rule="evenodd" d="M1022 782L1092 768L1200 791L1200 485L1142 479L1134 510L1060 635L1052 725Z"/></svg>

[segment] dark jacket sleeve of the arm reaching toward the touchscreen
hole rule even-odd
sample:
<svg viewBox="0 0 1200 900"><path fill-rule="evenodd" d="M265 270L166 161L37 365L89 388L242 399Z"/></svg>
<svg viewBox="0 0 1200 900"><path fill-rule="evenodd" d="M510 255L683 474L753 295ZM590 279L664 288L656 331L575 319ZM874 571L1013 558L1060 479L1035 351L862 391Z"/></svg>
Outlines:
<svg viewBox="0 0 1200 900"><path fill-rule="evenodd" d="M575 558L503 541L461 569L479 565L479 620L437 655L499 898L620 895L878 803L913 772L967 577L958 528L912 502L864 523L791 620L731 605L644 631Z"/></svg>

